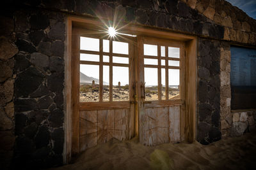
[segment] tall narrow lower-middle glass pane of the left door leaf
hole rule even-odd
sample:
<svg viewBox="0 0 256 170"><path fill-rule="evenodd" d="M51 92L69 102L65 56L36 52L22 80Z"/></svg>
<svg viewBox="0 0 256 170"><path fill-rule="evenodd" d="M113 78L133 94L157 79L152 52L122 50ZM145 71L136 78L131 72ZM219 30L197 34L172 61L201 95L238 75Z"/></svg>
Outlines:
<svg viewBox="0 0 256 170"><path fill-rule="evenodd" d="M103 101L109 101L109 66L103 66Z"/></svg>

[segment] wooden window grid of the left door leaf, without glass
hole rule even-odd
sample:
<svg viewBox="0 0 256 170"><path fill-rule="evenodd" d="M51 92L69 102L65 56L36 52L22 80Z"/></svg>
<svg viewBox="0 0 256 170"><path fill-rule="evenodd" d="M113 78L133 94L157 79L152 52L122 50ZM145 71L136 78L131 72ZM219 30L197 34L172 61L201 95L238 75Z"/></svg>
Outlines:
<svg viewBox="0 0 256 170"><path fill-rule="evenodd" d="M79 26L78 26L79 27ZM93 28L92 28L93 29ZM129 100L128 101L113 101L113 66L120 66L120 67L128 67L129 72L130 68L132 67L132 59L134 57L134 49L132 42L134 41L134 38L129 37L129 36L123 36L124 38L122 39L115 39L115 38L107 38L107 34L104 33L99 33L99 32L93 32L90 29L84 29L84 28L73 28L72 34L76 34L77 38L80 37L86 37L86 38L97 38L99 39L99 52L95 51L90 51L90 50L81 50L80 49L80 39L73 39L73 55L80 55L81 53L86 53L86 54L94 54L94 55L99 55L100 60L99 62L95 61L84 61L80 60L79 56L76 56L76 60L74 60L72 63L79 63L79 64L89 64L89 65L96 65L99 66L99 101L97 102L81 102L78 101L79 103L79 110L104 110L106 108L108 109L118 109L118 108L129 108L132 102L132 96L133 95L133 90L131 87L131 82L133 76L130 75L129 73ZM109 40L109 52L103 52L103 39L108 39ZM76 42L74 42L76 41ZM122 54L122 53L113 53L113 41L119 41L119 42L124 42L128 43L128 48L129 48L129 53L128 54ZM78 51L77 51L78 50ZM103 55L108 55L109 56L109 62L103 62ZM129 59L129 64L121 64L121 63L113 63L113 57L125 57ZM103 66L109 66L109 101L103 101ZM76 71L73 71L72 78L76 77L72 81L72 86L79 87L79 77L78 70L79 66L73 66L73 68L77 69ZM74 94L77 93L79 94L79 90L76 90L76 92L73 92ZM74 96L77 97L77 96ZM76 100L76 99L74 99Z"/></svg>

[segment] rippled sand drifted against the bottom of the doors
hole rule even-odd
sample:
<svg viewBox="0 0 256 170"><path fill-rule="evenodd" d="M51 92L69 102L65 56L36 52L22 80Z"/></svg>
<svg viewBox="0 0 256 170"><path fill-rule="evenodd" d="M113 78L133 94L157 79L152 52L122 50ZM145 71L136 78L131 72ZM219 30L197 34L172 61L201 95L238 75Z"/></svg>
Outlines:
<svg viewBox="0 0 256 170"><path fill-rule="evenodd" d="M256 169L256 133L221 139L210 145L198 142L143 146L134 138L89 148L65 169Z"/></svg>

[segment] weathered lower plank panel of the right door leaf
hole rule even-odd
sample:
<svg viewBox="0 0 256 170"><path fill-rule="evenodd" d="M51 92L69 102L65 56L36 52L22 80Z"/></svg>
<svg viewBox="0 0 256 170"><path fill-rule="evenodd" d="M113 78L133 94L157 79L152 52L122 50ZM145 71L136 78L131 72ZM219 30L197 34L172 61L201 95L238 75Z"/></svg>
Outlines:
<svg viewBox="0 0 256 170"><path fill-rule="evenodd" d="M154 146L161 143L180 141L180 106L146 108L141 116L141 136L143 145Z"/></svg>

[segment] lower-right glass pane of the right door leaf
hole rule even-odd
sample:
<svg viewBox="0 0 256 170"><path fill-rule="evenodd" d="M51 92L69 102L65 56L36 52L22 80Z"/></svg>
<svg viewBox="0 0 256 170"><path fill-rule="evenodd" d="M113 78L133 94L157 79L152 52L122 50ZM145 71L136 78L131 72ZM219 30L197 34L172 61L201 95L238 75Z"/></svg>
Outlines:
<svg viewBox="0 0 256 170"><path fill-rule="evenodd" d="M180 98L180 70L179 69L169 69L169 99L179 99Z"/></svg>

